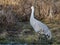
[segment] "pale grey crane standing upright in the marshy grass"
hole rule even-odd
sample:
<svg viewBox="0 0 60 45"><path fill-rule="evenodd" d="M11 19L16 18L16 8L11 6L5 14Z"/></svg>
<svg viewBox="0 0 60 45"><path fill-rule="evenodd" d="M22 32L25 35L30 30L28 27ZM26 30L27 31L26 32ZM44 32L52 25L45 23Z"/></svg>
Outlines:
<svg viewBox="0 0 60 45"><path fill-rule="evenodd" d="M47 27L47 25L43 24L41 21L38 21L37 19L34 18L34 6L31 7L32 12L31 12L31 16L30 16L30 24L33 27L35 32L40 32L40 33L44 33L48 39L52 38L52 34L49 30L49 28Z"/></svg>

